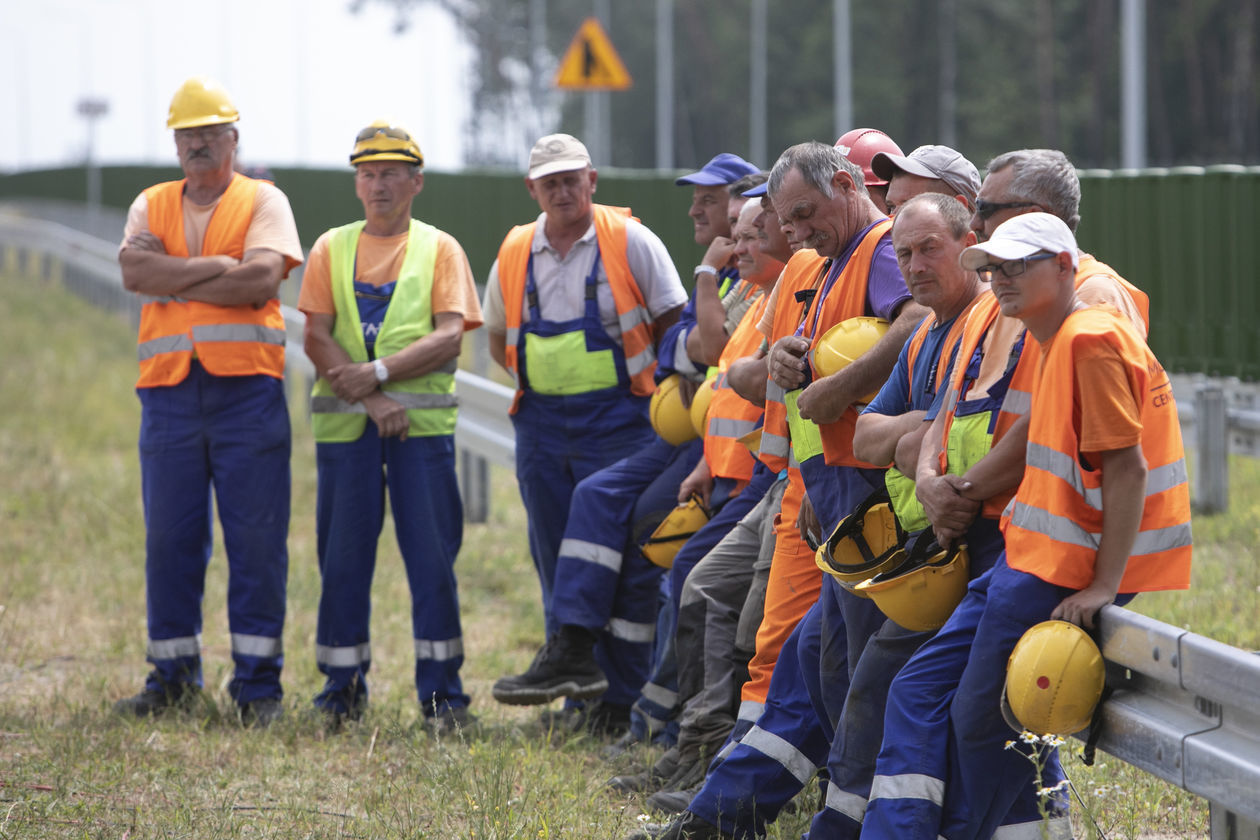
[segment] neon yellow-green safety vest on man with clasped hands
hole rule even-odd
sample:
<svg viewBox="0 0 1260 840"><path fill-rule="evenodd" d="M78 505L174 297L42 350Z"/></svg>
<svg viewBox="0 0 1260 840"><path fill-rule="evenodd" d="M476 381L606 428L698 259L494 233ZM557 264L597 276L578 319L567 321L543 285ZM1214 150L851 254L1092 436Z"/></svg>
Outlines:
<svg viewBox="0 0 1260 840"><path fill-rule="evenodd" d="M354 264L359 237L365 222L354 222L333 230L329 238L329 270L336 317L333 338L354 361L367 361L359 306L354 297ZM389 307L377 334L377 358L410 346L433 331L432 288L437 258L437 228L411 220L407 252ZM391 380L382 390L407 409L410 437L435 437L455 433L455 368L452 359L440 370L413 379ZM320 443L357 441L367 427L362 403L346 403L336 397L326 379L311 389L311 428Z"/></svg>

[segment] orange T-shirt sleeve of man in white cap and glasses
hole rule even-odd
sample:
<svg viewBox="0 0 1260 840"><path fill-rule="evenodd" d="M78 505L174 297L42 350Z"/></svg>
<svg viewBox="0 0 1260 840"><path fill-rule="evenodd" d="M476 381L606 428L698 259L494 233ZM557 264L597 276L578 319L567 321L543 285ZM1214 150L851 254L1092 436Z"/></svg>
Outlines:
<svg viewBox="0 0 1260 840"><path fill-rule="evenodd" d="M1142 442L1142 412L1129 365L1105 341L1080 343L1076 404L1081 452L1123 450Z"/></svg>

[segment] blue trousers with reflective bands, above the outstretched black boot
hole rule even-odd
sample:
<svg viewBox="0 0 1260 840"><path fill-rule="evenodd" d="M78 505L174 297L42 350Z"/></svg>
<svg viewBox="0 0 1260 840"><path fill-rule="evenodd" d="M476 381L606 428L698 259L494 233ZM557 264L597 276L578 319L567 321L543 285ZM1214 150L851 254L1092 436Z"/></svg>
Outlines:
<svg viewBox="0 0 1260 840"><path fill-rule="evenodd" d="M651 669L660 578L639 550L678 505L678 485L703 456L703 443L651 443L573 490L556 562L552 615L558 625L598 633L595 659L609 678L604 700L629 707Z"/></svg>

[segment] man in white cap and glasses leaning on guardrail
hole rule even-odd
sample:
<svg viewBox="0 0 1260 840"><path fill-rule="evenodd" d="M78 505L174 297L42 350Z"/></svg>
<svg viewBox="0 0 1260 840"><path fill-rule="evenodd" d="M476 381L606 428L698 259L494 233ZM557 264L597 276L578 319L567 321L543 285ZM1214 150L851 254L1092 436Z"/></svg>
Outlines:
<svg viewBox="0 0 1260 840"><path fill-rule="evenodd" d="M863 837L989 837L1037 773L1005 749L1005 664L1043 620L1092 628L1097 611L1189 587L1189 489L1172 384L1128 319L1075 292L1076 239L1018 215L963 264L988 272L1007 316L1043 348L1027 470L1003 514L1005 553L892 684ZM1052 686L1047 686L1052 688ZM948 720L907 714L950 709ZM1053 751L1038 783L1063 778ZM1067 807L1061 792L1045 806Z"/></svg>

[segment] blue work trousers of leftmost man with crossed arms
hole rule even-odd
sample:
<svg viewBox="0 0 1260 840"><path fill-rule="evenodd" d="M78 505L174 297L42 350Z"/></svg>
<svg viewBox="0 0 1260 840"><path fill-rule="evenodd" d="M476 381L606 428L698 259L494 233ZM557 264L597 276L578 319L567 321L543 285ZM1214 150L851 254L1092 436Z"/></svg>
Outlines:
<svg viewBox="0 0 1260 840"><path fill-rule="evenodd" d="M280 698L289 578L289 408L266 375L215 377L193 360L176 385L137 388L149 613L147 689L202 684L202 598L213 506L228 559L228 625L244 705Z"/></svg>

